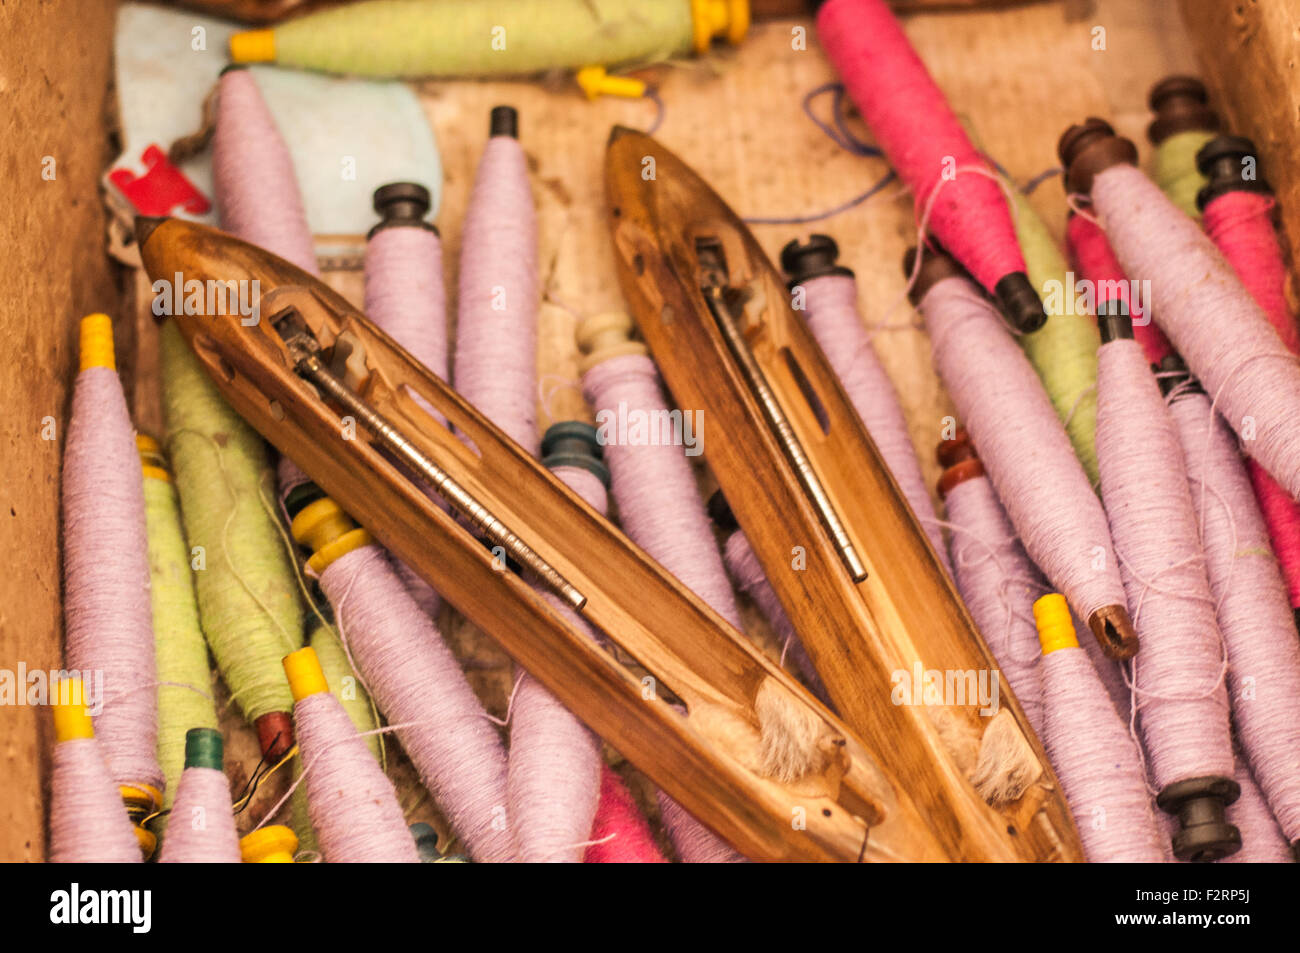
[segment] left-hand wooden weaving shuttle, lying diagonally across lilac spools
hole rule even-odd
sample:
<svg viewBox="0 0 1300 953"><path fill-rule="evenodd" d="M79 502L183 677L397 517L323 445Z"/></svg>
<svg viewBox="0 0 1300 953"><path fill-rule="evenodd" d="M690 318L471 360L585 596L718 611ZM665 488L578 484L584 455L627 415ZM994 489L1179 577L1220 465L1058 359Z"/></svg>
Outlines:
<svg viewBox="0 0 1300 953"><path fill-rule="evenodd" d="M199 313L174 316L226 400L737 850L755 861L950 857L933 820L838 718L342 296L216 229L140 220L136 233L153 281L257 282L260 315L247 325L212 294ZM344 416L355 420L351 439ZM385 428L404 447L382 438ZM533 582L502 571L504 560L412 478L420 469L445 484L445 497L472 499L478 528L540 569L532 577L634 658L658 690L646 692ZM764 767L760 732L771 722L760 712L774 706L812 738L815 758L792 780Z"/></svg>

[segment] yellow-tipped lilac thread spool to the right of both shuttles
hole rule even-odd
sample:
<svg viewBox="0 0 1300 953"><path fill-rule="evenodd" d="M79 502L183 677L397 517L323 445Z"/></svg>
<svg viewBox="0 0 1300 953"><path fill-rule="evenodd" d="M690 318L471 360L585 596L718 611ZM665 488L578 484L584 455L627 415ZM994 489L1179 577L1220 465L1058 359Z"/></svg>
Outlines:
<svg viewBox="0 0 1300 953"><path fill-rule="evenodd" d="M1093 863L1161 863L1164 835L1128 727L1079 647L1065 598L1034 602L1043 646L1043 746Z"/></svg>

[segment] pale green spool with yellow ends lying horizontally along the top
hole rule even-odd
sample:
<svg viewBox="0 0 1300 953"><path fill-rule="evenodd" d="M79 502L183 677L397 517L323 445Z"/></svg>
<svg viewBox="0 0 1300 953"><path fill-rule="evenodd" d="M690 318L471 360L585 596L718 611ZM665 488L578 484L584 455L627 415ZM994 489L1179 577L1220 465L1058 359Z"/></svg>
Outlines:
<svg viewBox="0 0 1300 953"><path fill-rule="evenodd" d="M230 59L376 78L525 75L705 53L748 29L748 0L386 0L237 33Z"/></svg>

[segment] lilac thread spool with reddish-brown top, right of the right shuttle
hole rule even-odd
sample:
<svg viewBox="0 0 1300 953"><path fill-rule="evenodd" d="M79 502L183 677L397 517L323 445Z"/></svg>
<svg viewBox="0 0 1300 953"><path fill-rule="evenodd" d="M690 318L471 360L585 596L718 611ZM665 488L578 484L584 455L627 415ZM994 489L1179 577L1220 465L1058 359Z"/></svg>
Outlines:
<svg viewBox="0 0 1300 953"><path fill-rule="evenodd" d="M1041 735L1034 602L1048 592L1046 580L1020 546L970 437L959 432L939 445L937 455L945 467L939 495L952 524L953 577L1026 718Z"/></svg>

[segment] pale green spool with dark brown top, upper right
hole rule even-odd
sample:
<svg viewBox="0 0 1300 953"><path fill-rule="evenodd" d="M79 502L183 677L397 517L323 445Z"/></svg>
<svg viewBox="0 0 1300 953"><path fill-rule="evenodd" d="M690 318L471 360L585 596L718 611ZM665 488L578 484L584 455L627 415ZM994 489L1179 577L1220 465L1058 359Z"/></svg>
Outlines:
<svg viewBox="0 0 1300 953"><path fill-rule="evenodd" d="M1195 77L1166 77L1150 88L1147 103L1156 113L1147 127L1147 138L1156 147L1152 177L1170 202L1197 218L1196 194L1205 178L1195 156L1219 126L1205 85Z"/></svg>

